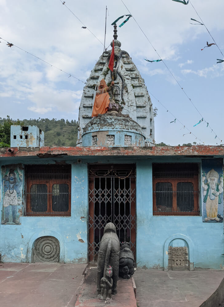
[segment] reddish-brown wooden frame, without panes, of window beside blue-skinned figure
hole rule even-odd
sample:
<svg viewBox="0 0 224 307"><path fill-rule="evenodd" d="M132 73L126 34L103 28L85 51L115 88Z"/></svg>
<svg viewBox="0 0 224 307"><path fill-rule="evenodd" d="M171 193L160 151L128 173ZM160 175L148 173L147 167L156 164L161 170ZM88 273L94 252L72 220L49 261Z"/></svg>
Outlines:
<svg viewBox="0 0 224 307"><path fill-rule="evenodd" d="M39 165L35 165L39 167ZM51 167L51 165L45 165L45 168ZM61 169L63 172L63 169ZM62 173L61 173L62 174ZM53 211L52 209L52 188L55 184L67 184L69 186L68 198L69 208L67 211ZM32 211L31 209L31 186L32 185L46 185L47 186L47 211ZM71 169L69 179L31 179L26 178L26 216L71 216Z"/></svg>

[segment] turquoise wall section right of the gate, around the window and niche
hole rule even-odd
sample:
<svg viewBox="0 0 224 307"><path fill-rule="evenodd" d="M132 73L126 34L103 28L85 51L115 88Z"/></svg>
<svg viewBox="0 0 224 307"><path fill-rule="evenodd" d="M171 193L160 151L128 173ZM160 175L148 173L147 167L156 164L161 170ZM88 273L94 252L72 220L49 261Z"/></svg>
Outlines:
<svg viewBox="0 0 224 307"><path fill-rule="evenodd" d="M167 161L174 162L168 159ZM156 269L164 267L166 270L171 241L183 239L189 248L191 269L193 266L223 269L223 223L203 223L202 216L153 216L152 162L159 160L142 160L136 163L137 266Z"/></svg>

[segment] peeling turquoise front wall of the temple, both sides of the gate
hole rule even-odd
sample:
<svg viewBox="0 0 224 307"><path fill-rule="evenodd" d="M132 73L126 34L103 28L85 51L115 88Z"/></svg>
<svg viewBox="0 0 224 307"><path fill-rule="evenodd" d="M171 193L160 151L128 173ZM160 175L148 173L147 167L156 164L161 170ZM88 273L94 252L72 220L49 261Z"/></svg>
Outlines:
<svg viewBox="0 0 224 307"><path fill-rule="evenodd" d="M77 159L82 159L81 163ZM140 268L166 270L168 246L187 246L191 269L224 267L223 223L203 223L202 216L153 216L152 163L197 162L201 158L64 157L61 159L5 158L6 164L47 164L66 160L72 165L71 217L20 217L20 225L0 225L3 262L30 262L34 241L44 235L60 242L60 262L87 262L88 163L136 163L136 264ZM199 178L200 178L199 171ZM0 175L2 176L2 175ZM2 215L2 178L0 180ZM201 202L201 196L199 196ZM201 203L200 203L201 205ZM0 216L0 218L2 218ZM2 220L2 219L1 219ZM173 241L175 240L175 241ZM173 241L173 242L171 242Z"/></svg>

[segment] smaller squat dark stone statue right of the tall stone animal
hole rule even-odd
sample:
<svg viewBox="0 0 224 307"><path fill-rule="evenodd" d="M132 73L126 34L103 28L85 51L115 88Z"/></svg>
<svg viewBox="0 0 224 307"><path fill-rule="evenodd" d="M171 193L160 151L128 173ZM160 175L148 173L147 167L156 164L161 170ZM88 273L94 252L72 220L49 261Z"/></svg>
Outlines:
<svg viewBox="0 0 224 307"><path fill-rule="evenodd" d="M128 242L122 242L119 258L119 276L122 278L131 278L134 274L134 256L129 248Z"/></svg>

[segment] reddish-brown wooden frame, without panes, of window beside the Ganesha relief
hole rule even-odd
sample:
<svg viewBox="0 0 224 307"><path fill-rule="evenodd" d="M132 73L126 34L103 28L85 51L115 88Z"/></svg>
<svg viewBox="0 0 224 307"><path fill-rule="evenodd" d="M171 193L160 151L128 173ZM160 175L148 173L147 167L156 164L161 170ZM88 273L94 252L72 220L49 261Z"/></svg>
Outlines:
<svg viewBox="0 0 224 307"><path fill-rule="evenodd" d="M155 165L158 165L159 163L155 163ZM181 163L167 163L167 164L181 164ZM185 163L186 164L186 163ZM189 163L191 164L191 163ZM166 212L166 211L158 211L158 208L156 207L156 183L159 182L165 182L165 183L171 183L172 185L172 211ZM193 211L180 211L177 206L177 184L179 182L190 182L193 184L194 188L194 209ZM199 186L198 186L198 173L195 174L194 177L188 177L188 178L154 178L152 175L152 186L153 186L153 215L154 216L200 216L200 210L199 210Z"/></svg>

